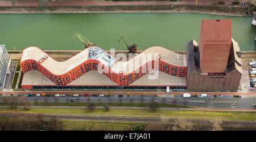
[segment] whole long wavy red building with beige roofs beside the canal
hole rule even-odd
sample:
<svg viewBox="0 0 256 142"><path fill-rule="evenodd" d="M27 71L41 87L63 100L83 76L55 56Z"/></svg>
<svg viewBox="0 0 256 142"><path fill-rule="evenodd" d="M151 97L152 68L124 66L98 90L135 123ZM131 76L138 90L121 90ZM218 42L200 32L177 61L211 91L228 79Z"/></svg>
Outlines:
<svg viewBox="0 0 256 142"><path fill-rule="evenodd" d="M60 62L38 47L23 50L22 88L186 87L187 55L160 46L119 61L91 46Z"/></svg>

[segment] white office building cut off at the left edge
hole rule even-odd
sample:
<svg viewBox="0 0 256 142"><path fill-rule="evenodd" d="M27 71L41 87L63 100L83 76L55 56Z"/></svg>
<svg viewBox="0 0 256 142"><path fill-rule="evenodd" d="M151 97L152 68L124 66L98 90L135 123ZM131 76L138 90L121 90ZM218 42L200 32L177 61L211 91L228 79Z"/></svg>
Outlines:
<svg viewBox="0 0 256 142"><path fill-rule="evenodd" d="M10 56L5 45L0 45L0 89L5 88L6 74L10 66Z"/></svg>

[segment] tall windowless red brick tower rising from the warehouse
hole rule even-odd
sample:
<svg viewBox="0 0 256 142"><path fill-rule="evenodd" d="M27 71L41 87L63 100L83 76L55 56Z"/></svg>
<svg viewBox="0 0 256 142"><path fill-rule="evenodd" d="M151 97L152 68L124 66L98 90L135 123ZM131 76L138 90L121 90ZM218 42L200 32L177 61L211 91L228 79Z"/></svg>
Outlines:
<svg viewBox="0 0 256 142"><path fill-rule="evenodd" d="M201 21L199 38L200 72L225 72L232 38L231 19Z"/></svg>

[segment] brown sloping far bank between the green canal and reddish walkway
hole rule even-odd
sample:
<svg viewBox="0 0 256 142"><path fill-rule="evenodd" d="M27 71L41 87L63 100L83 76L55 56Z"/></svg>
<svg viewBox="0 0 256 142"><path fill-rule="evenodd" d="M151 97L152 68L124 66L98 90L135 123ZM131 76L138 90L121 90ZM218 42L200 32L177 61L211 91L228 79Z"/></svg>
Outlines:
<svg viewBox="0 0 256 142"><path fill-rule="evenodd" d="M203 5L111 5L111 6L1 6L0 14L63 13L200 13L227 16L251 16L254 8Z"/></svg>

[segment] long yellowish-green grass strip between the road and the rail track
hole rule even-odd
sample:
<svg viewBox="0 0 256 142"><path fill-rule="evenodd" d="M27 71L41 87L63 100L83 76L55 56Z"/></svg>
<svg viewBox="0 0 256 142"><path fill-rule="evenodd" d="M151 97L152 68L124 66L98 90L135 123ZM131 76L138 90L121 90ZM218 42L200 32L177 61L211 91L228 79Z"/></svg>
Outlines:
<svg viewBox="0 0 256 142"><path fill-rule="evenodd" d="M163 110L152 111L150 109L115 109L106 111L104 108L97 108L90 111L87 108L52 108L52 107L32 107L30 111L23 108L10 109L0 108L2 113L28 113L28 114L55 114L55 115L89 115L106 117L142 117L159 118L162 115L168 118L187 118L187 119L215 119L219 118L226 121L256 121L256 112L229 112L229 111L203 111L203 110Z"/></svg>

